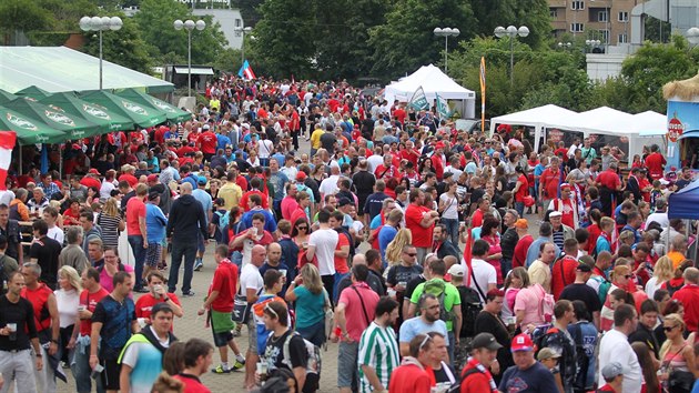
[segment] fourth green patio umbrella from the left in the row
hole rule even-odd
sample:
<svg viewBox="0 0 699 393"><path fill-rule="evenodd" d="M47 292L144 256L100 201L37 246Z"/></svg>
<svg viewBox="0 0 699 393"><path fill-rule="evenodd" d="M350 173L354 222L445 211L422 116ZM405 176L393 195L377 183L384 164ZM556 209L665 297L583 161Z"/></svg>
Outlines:
<svg viewBox="0 0 699 393"><path fill-rule="evenodd" d="M108 110L131 119L135 124L146 128L160 124L168 120L165 112L156 109L144 108L123 97L108 93L107 91L91 91L82 93L79 98L83 101L97 103Z"/></svg>

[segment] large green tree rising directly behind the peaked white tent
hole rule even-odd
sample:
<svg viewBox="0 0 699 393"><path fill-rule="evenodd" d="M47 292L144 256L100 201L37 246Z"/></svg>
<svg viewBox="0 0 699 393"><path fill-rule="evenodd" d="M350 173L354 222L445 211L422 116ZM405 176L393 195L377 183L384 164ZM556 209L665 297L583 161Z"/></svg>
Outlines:
<svg viewBox="0 0 699 393"><path fill-rule="evenodd" d="M396 78L418 67L437 63L442 59L444 38L435 37L437 27L458 28L460 34L452 38L464 41L475 37L470 4L453 0L397 0L386 14L386 23L369 30L374 48L372 73L385 79Z"/></svg>

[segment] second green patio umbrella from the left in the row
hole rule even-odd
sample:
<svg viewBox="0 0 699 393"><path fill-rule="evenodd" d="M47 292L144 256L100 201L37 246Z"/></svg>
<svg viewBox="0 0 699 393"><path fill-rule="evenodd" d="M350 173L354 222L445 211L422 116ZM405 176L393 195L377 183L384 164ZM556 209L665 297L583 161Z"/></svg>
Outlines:
<svg viewBox="0 0 699 393"><path fill-rule="evenodd" d="M18 98L2 105L27 117L41 120L49 127L62 131L64 140L87 138L100 133L100 127L93 122L24 98Z"/></svg>

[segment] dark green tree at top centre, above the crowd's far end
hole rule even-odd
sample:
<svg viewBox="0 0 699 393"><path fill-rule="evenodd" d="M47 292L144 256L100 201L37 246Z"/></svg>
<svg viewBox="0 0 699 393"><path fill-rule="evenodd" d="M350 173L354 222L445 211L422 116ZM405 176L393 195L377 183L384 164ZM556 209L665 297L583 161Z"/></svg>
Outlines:
<svg viewBox="0 0 699 393"><path fill-rule="evenodd" d="M316 74L317 33L315 3L302 0L267 0L260 6L251 54L259 60L255 72L276 78L311 78ZM246 41L247 42L247 41Z"/></svg>

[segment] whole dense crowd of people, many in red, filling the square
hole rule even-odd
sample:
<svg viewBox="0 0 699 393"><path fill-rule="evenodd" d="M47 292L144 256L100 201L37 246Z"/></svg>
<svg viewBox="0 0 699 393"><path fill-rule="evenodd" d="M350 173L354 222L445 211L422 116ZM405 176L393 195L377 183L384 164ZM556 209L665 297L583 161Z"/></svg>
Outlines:
<svg viewBox="0 0 699 393"><path fill-rule="evenodd" d="M335 371L343 393L692 391L695 230L667 213L692 172L657 145L534 151L344 82L224 78L206 100L67 144L65 180L30 151L10 171L0 392L209 392L239 370L261 392ZM213 340L180 342L195 291Z"/></svg>

